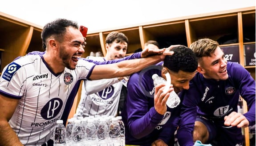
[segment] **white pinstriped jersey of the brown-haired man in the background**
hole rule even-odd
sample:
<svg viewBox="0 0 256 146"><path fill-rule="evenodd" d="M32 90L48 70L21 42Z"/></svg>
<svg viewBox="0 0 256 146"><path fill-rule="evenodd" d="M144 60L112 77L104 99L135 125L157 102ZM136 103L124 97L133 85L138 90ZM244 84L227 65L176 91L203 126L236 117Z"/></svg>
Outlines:
<svg viewBox="0 0 256 146"><path fill-rule="evenodd" d="M103 57L89 56L86 59L106 61ZM90 94L85 90L85 86L86 88L102 88L102 90ZM74 117L87 117L89 115L117 115L121 89L122 82L118 81L117 78L84 81L81 90L81 99Z"/></svg>

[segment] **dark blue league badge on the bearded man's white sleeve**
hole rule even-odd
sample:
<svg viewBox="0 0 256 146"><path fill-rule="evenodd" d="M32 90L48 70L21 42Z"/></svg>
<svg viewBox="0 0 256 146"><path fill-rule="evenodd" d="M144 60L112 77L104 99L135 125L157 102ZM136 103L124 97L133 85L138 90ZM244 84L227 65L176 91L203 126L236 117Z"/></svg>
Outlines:
<svg viewBox="0 0 256 146"><path fill-rule="evenodd" d="M3 78L6 81L11 81L14 73L16 73L16 71L18 69L20 69L20 65L16 64L15 62L12 62L11 64L8 65L7 69L4 71L3 73Z"/></svg>

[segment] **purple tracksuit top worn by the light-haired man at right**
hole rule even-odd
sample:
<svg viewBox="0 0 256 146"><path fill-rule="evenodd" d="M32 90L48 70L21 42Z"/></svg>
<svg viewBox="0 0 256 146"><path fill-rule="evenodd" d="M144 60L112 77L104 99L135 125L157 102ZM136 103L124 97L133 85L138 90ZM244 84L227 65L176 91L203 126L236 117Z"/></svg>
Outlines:
<svg viewBox="0 0 256 146"><path fill-rule="evenodd" d="M190 88L183 90L182 113L177 133L180 146L194 145L192 131L196 115L203 115L214 121L220 142L218 146L235 146L236 142L240 142L241 128L233 127L233 129L227 130L222 127L224 126L224 116L229 115L232 111L237 112L240 96L247 102L249 109L244 116L248 119L249 125L255 124L254 79L238 63L228 62L227 70L228 79L225 81L206 79L201 73L196 73L190 82ZM235 131L238 132L237 137L228 136L229 134L226 133L235 133Z"/></svg>

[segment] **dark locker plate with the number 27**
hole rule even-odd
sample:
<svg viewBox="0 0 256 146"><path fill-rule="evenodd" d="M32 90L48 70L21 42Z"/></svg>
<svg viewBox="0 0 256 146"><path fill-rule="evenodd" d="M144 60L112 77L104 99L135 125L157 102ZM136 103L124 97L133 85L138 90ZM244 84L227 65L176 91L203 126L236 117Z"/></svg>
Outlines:
<svg viewBox="0 0 256 146"><path fill-rule="evenodd" d="M220 49L224 53L224 57L227 61L240 63L239 59L239 46L222 46Z"/></svg>

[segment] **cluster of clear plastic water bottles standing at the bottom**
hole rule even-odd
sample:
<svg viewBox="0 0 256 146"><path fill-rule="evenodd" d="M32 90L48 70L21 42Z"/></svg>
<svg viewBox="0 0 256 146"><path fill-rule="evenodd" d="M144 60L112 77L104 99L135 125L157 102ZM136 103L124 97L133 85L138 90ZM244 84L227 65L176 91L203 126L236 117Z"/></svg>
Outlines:
<svg viewBox="0 0 256 146"><path fill-rule="evenodd" d="M63 137L65 142L62 144L54 139L55 146L125 146L125 129L121 116L103 115L68 119L65 138Z"/></svg>

